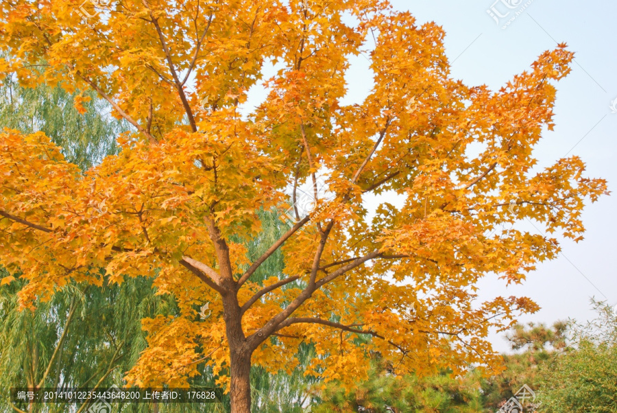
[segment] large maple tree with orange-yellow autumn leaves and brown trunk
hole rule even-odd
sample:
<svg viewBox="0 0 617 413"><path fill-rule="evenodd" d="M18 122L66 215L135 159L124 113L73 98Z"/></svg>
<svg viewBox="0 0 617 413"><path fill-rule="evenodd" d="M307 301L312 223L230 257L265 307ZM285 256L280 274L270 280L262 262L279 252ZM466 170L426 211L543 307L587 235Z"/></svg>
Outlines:
<svg viewBox="0 0 617 413"><path fill-rule="evenodd" d="M248 412L250 366L290 370L302 342L315 346L308 374L348 385L366 376L368 352L420 373L494 366L488 329L537 305L476 303L476 281L521 282L559 251L505 224L533 219L579 240L583 205L606 192L577 156L533 170L553 83L570 71L565 45L491 91L450 76L441 27L386 1L0 8L11 56L0 71L24 86L90 87L134 127L86 172L41 132L0 134L2 283L27 280L23 307L71 280L101 285L98 268L117 283L152 276L176 298L180 316L143 320L149 346L129 384L184 386L206 363L232 411ZM367 49L374 87L342 104L350 57ZM281 69L264 80L271 63ZM242 115L261 80L266 99ZM264 236L257 211L295 202L303 183L315 209L295 205L288 231L249 257ZM394 193L402 206L387 202ZM284 271L258 281L274 254Z"/></svg>

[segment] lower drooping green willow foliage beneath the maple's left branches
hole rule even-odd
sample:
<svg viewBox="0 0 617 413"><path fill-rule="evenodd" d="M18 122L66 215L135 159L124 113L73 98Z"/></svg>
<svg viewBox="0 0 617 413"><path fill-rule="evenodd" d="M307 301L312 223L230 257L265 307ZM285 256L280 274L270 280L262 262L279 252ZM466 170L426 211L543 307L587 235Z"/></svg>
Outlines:
<svg viewBox="0 0 617 413"><path fill-rule="evenodd" d="M172 313L172 300L154 296L144 278L105 289L69 285L36 310L19 311L16 292L22 281L1 289L0 392L13 386L95 387L121 383L123 372L145 348L141 318ZM70 317L71 309L73 316ZM60 337L66 330L64 342ZM58 354L50 364L51 356ZM44 372L51 366L45 379ZM27 412L66 412L62 404L19 405ZM4 410L11 411L11 410Z"/></svg>

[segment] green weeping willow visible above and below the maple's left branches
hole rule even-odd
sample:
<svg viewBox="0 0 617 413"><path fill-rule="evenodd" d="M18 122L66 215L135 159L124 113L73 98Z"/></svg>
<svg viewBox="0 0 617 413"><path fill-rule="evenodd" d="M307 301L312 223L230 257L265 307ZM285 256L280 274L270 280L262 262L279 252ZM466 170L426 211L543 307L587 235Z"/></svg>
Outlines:
<svg viewBox="0 0 617 413"><path fill-rule="evenodd" d="M55 143L69 149L66 158L84 169L116 152L115 138L127 130L126 123L110 117L108 104L96 93L70 94L47 84L24 88L13 79L9 76L0 85L0 128L18 128L24 133L43 130ZM75 107L75 98L80 95L91 99ZM9 274L0 268L0 279L6 276ZM6 399L15 386L105 389L122 384L123 374L134 366L146 346L141 319L177 313L173 297L162 300L156 296L152 279L144 277L127 279L121 286L71 283L48 302L38 300L34 311L19 311L16 293L24 285L25 281L19 280L0 286L0 390ZM211 372L203 373L193 381L194 386L213 385ZM0 411L14 411L8 400L2 404ZM223 408L186 404L169 407L165 406L165 411L192 408L216 412ZM25 404L19 408L28 412L66 411L63 404ZM132 412L152 410L149 405L130 408Z"/></svg>

